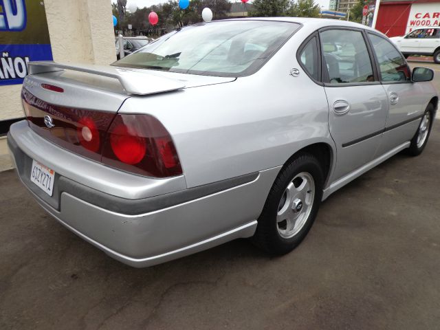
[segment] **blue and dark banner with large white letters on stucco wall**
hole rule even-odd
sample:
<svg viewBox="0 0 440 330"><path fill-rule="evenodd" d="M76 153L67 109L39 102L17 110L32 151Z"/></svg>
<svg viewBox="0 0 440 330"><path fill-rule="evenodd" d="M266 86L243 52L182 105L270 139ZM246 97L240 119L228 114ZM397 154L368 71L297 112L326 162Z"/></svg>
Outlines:
<svg viewBox="0 0 440 330"><path fill-rule="evenodd" d="M29 61L52 61L41 0L0 0L0 86L23 83Z"/></svg>

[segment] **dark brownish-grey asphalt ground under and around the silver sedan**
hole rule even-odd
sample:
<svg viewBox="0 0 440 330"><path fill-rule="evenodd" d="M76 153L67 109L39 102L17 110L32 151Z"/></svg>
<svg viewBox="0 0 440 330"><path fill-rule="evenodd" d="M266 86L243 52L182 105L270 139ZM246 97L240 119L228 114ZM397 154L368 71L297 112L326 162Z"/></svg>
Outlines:
<svg viewBox="0 0 440 330"><path fill-rule="evenodd" d="M422 155L322 203L294 252L242 239L145 269L79 239L5 171L0 329L439 329L439 168L437 123Z"/></svg>

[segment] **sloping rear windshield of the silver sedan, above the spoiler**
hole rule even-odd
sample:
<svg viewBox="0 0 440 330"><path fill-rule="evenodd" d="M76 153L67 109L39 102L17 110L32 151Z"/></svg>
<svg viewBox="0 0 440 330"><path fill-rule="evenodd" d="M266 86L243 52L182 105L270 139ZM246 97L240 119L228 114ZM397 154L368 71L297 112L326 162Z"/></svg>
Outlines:
<svg viewBox="0 0 440 330"><path fill-rule="evenodd" d="M245 76L259 69L299 26L278 21L200 23L163 36L113 65Z"/></svg>

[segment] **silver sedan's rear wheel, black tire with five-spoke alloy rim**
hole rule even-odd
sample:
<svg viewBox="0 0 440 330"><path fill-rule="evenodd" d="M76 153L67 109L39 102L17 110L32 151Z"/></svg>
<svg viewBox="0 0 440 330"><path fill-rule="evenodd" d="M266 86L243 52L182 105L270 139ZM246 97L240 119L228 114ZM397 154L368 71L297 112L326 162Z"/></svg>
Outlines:
<svg viewBox="0 0 440 330"><path fill-rule="evenodd" d="M252 241L272 255L294 250L315 221L323 184L316 157L300 153L289 161L272 185Z"/></svg>

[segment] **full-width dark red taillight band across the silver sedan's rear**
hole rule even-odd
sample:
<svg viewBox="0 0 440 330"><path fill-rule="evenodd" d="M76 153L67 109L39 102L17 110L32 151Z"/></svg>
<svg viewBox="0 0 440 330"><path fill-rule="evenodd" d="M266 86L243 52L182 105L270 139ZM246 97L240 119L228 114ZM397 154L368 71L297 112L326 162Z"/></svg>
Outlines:
<svg viewBox="0 0 440 330"><path fill-rule="evenodd" d="M50 104L23 88L30 128L83 157L150 177L173 177L182 170L173 140L151 115L117 115ZM49 116L52 125L47 126Z"/></svg>

